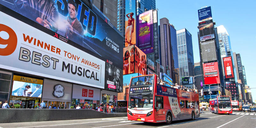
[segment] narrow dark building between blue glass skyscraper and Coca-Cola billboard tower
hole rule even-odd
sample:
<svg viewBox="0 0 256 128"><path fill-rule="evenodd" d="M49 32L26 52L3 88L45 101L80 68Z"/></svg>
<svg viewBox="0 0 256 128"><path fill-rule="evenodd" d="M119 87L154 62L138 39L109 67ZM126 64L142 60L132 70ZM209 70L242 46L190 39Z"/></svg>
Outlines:
<svg viewBox="0 0 256 128"><path fill-rule="evenodd" d="M201 92L201 81L203 82L204 76L197 76L197 75L204 75L202 74L202 67L200 66L200 62L197 62L194 64L195 65L195 84L196 84L196 88L198 90L198 94L200 95Z"/></svg>

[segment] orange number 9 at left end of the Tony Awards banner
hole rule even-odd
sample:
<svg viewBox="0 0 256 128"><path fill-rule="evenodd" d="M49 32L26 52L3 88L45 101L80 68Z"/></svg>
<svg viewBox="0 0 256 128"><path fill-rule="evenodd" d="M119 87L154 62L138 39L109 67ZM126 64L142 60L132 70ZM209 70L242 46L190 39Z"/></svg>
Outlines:
<svg viewBox="0 0 256 128"><path fill-rule="evenodd" d="M9 35L9 37L7 39L5 39L3 36L1 37L1 35L3 35L3 34L1 34L2 31L6 32ZM3 25L3 24L0 24L0 46L1 45L5 45L5 47L2 46L4 48L0 48L1 56L11 55L15 51L16 46L17 46L16 33L12 30L12 28L10 28L6 25Z"/></svg>

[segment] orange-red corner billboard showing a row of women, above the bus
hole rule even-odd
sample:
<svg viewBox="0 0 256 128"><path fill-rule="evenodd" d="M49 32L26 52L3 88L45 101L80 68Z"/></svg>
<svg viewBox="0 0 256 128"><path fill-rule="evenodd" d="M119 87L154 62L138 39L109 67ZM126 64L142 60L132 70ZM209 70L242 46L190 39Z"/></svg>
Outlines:
<svg viewBox="0 0 256 128"><path fill-rule="evenodd" d="M147 56L137 46L124 47L123 75L131 73L147 74Z"/></svg>

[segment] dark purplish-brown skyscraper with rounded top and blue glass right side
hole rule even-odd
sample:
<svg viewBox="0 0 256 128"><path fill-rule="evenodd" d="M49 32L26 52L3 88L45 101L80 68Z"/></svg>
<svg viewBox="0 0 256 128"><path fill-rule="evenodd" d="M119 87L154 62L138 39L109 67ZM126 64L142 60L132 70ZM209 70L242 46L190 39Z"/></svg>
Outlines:
<svg viewBox="0 0 256 128"><path fill-rule="evenodd" d="M165 72L173 80L173 83L179 83L179 64L176 29L169 24L167 18L160 19L159 25L159 50L160 64L164 66Z"/></svg>

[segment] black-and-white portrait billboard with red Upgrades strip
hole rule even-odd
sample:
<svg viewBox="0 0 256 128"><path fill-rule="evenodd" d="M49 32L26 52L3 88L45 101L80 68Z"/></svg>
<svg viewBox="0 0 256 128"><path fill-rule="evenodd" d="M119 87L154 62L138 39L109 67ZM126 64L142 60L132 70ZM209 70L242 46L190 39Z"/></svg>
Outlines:
<svg viewBox="0 0 256 128"><path fill-rule="evenodd" d="M122 70L113 65L113 62L107 60L105 66L105 89L123 92Z"/></svg>

